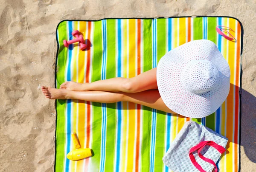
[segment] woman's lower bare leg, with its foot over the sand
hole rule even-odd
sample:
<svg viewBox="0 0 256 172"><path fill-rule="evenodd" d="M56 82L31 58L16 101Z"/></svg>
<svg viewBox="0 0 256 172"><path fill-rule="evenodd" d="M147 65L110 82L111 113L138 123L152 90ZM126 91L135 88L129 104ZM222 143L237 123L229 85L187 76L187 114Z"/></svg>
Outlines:
<svg viewBox="0 0 256 172"><path fill-rule="evenodd" d="M164 112L174 113L164 104L158 90L146 90L139 93L124 93L106 91L72 91L42 87L42 91L49 99L79 99L99 103L127 101L142 104Z"/></svg>

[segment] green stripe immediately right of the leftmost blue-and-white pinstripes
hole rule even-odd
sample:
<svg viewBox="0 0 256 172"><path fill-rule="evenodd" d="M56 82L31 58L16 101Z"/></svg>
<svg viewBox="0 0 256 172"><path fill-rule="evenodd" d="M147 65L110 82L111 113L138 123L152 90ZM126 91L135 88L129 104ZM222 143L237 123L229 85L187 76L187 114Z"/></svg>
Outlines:
<svg viewBox="0 0 256 172"><path fill-rule="evenodd" d="M107 20L107 79L116 76L116 20ZM105 172L114 167L116 103L107 104L107 136Z"/></svg>

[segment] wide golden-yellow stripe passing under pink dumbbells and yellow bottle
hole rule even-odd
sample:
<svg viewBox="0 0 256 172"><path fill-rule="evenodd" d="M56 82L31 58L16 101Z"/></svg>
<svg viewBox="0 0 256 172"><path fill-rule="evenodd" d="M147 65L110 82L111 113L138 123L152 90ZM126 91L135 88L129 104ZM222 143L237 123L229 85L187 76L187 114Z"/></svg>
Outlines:
<svg viewBox="0 0 256 172"><path fill-rule="evenodd" d="M85 37L85 32L86 32L86 22L80 22L79 24L79 29L78 29L82 34L83 37ZM84 51L79 51L79 59L78 59L78 70L79 70L79 75L78 75L78 82L83 83L84 82ZM84 146L84 125L85 125L85 104L84 101L79 101L78 104L78 110L79 110L79 116L78 116L78 137L80 141L81 147ZM77 161L77 172L80 172L83 170L83 160Z"/></svg>

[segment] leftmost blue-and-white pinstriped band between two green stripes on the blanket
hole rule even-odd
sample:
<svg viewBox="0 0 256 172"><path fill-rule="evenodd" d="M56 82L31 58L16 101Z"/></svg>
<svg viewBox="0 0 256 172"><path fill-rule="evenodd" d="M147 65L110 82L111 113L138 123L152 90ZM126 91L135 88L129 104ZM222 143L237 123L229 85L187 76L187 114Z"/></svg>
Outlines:
<svg viewBox="0 0 256 172"><path fill-rule="evenodd" d="M106 20L102 20L103 31L103 59L102 59L102 73L101 79L106 79L106 56L107 56L107 39L106 39ZM100 159L100 172L105 171L105 147L106 147L106 123L107 123L107 110L106 104L102 103L102 138L101 138L101 159Z"/></svg>

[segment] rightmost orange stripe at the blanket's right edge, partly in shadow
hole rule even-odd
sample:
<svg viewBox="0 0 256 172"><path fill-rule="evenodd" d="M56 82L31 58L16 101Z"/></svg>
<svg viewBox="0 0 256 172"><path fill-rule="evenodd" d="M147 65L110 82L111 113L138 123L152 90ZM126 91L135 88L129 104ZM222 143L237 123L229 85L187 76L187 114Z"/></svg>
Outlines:
<svg viewBox="0 0 256 172"><path fill-rule="evenodd" d="M235 95L235 136L234 136L234 147L235 147L235 172L238 171L238 166L236 164L238 164L238 118L239 118L239 76L240 76L240 70L239 70L239 66L240 66L240 41L241 41L241 26L240 23L238 21L237 22L237 47L236 47L236 83L235 83L235 91L236 91L236 95Z"/></svg>

